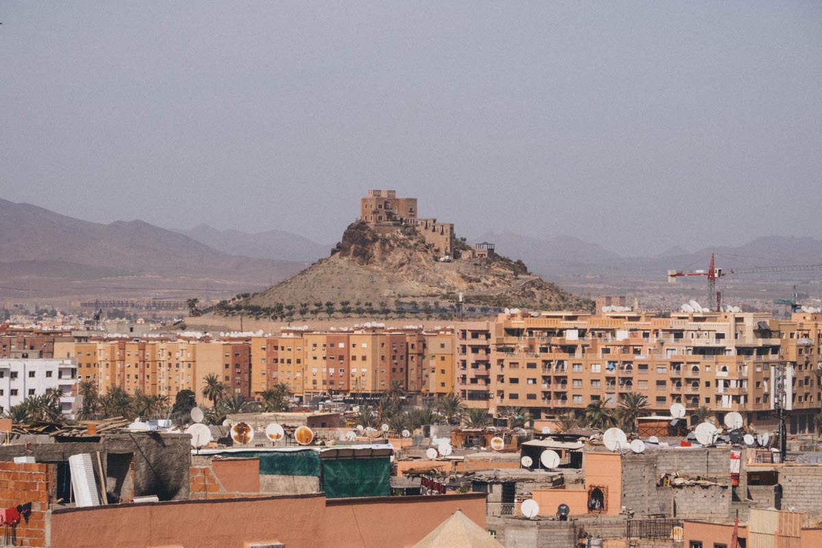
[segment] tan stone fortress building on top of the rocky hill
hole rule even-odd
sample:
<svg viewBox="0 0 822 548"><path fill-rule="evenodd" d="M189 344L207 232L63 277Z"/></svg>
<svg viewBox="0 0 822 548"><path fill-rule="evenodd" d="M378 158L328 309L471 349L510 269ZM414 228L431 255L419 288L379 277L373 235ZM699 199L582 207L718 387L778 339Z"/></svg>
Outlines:
<svg viewBox="0 0 822 548"><path fill-rule="evenodd" d="M360 198L360 217L379 233L413 226L443 256L454 255L454 224L418 219L416 198L397 198L396 191L368 191Z"/></svg>

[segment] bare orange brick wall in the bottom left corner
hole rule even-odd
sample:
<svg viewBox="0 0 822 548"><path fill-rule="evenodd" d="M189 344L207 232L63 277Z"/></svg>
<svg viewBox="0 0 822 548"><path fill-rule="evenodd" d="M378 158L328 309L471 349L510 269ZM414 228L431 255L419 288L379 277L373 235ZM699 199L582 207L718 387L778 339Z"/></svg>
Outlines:
<svg viewBox="0 0 822 548"><path fill-rule="evenodd" d="M0 463L0 509L31 503L28 523L16 525L18 546L46 546L49 473L48 464Z"/></svg>

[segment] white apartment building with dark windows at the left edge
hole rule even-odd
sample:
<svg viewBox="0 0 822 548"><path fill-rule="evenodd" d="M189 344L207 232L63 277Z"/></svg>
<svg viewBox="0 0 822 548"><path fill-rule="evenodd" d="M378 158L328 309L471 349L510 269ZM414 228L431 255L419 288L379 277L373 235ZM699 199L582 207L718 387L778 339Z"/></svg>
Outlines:
<svg viewBox="0 0 822 548"><path fill-rule="evenodd" d="M76 371L74 362L67 359L0 359L0 412L30 396L42 396L48 389L61 389L62 412L74 418Z"/></svg>

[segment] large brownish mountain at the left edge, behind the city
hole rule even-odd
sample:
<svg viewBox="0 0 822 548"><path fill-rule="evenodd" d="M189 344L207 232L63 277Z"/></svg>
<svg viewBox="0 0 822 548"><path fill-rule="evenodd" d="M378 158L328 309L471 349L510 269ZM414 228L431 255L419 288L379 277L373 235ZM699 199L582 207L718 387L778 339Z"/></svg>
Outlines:
<svg viewBox="0 0 822 548"><path fill-rule="evenodd" d="M229 255L143 221L102 224L0 200L0 276L7 292L85 292L76 282L140 279L140 287L267 285L302 269L285 260ZM109 283L111 285L111 283ZM8 294L8 293L6 293Z"/></svg>

